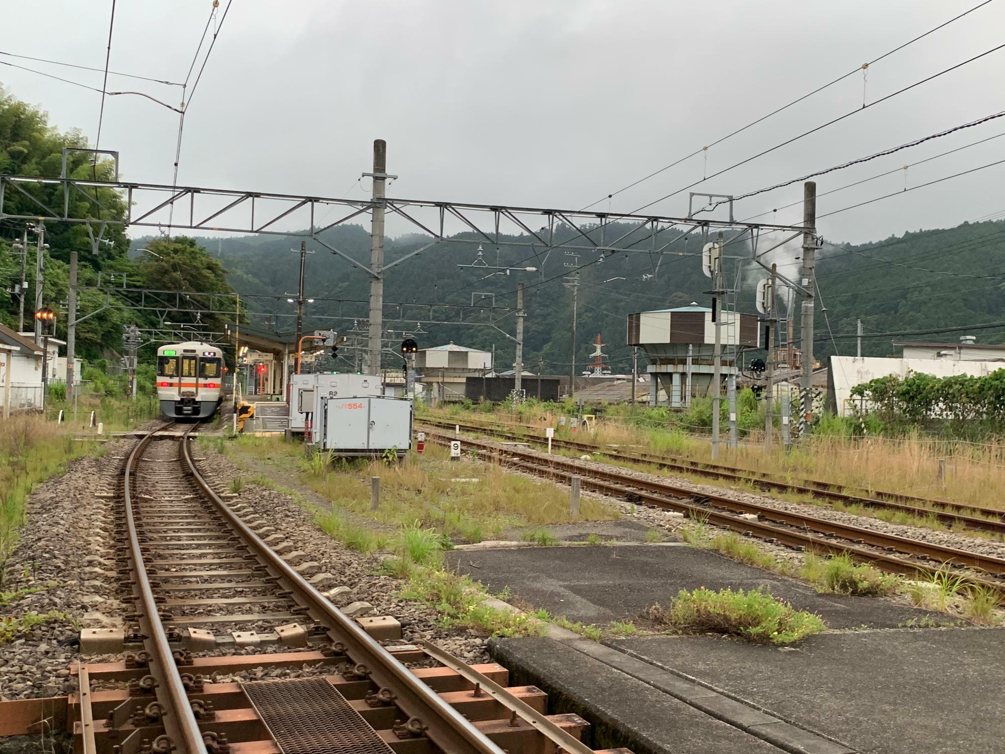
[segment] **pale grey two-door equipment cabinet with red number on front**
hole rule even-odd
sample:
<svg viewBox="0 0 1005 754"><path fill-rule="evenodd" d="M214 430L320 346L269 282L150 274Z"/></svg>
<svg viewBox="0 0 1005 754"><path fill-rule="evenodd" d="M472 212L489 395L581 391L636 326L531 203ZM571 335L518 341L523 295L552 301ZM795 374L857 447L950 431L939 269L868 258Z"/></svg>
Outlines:
<svg viewBox="0 0 1005 754"><path fill-rule="evenodd" d="M322 399L321 448L337 455L379 455L412 446L412 401L386 396ZM316 432L316 436L319 433Z"/></svg>

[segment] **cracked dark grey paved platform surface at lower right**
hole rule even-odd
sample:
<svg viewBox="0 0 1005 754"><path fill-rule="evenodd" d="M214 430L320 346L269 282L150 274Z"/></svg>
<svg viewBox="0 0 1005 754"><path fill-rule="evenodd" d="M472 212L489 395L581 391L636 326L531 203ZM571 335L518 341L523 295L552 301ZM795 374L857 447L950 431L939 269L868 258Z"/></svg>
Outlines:
<svg viewBox="0 0 1005 754"><path fill-rule="evenodd" d="M811 587L680 543L520 547L446 553L489 591L572 621L634 620L600 642L549 627L489 650L555 712L591 722L595 747L636 754L1005 752L999 694L1005 628ZM829 630L788 646L648 633L641 613L679 589L764 585ZM920 626L932 627L920 627Z"/></svg>

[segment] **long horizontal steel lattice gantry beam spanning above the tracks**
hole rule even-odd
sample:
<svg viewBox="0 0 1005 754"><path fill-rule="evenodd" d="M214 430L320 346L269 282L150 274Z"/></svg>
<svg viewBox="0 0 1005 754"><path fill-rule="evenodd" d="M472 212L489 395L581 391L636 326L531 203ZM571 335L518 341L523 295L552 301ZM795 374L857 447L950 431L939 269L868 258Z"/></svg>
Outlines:
<svg viewBox="0 0 1005 754"><path fill-rule="evenodd" d="M97 198L96 190L116 192L126 204L123 220L71 216L70 198L86 200L99 218L114 217L111 207ZM42 196L44 193L46 196ZM12 197L23 206L13 208ZM49 197L46 199L46 197ZM53 203L59 206L53 206ZM380 202L387 213L397 216L427 236L429 242L372 270L366 263L336 248L320 235L360 215ZM328 218L337 213L332 222ZM643 251L660 253L681 235L667 239L665 233L682 228L684 233L732 229L749 232L756 243L762 231L801 232L801 226L751 223L695 217L651 214L619 214L585 210L548 209L421 199L336 199L331 197L277 194L261 191L172 187L160 184L88 181L71 178L39 178L0 175L0 219L25 219L70 223L133 225L179 230L264 233L312 238L372 276L393 267L438 243L470 243L470 237L449 237L459 229L478 242L531 248L535 252L562 247L601 253ZM279 225L292 229L280 229ZM627 232L624 225L630 225ZM450 226L448 230L447 226Z"/></svg>

